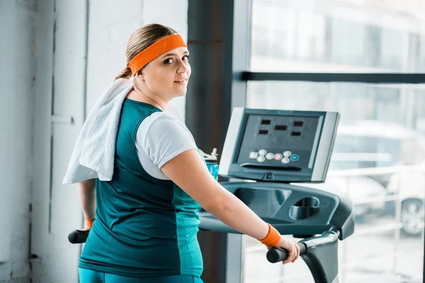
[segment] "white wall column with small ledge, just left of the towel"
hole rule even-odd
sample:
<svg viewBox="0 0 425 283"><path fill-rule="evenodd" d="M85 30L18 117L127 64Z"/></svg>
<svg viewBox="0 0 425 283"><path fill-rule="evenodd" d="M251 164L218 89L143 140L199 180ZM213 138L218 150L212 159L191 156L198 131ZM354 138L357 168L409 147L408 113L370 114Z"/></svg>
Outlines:
<svg viewBox="0 0 425 283"><path fill-rule="evenodd" d="M55 51L52 61L52 115L72 117L73 124L51 123L50 229L42 237L42 276L33 282L78 282L79 245L67 235L82 226L82 213L76 185L63 185L69 156L84 122L86 79L86 1L54 1ZM45 3L38 1L38 4ZM50 49L50 48L49 48Z"/></svg>

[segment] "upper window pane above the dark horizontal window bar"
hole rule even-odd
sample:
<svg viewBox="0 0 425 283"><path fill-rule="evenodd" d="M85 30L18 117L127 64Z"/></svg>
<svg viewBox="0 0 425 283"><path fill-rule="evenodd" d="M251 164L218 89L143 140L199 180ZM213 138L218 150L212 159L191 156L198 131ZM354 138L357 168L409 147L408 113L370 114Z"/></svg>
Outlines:
<svg viewBox="0 0 425 283"><path fill-rule="evenodd" d="M254 0L251 71L425 71L424 19L349 2Z"/></svg>

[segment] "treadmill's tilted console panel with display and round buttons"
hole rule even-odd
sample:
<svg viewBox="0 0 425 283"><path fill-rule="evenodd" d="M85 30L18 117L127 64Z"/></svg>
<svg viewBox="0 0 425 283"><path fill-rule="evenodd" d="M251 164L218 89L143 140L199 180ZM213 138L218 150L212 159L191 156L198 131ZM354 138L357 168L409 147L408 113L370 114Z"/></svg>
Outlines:
<svg viewBox="0 0 425 283"><path fill-rule="evenodd" d="M323 183L338 122L337 112L234 108L219 174Z"/></svg>

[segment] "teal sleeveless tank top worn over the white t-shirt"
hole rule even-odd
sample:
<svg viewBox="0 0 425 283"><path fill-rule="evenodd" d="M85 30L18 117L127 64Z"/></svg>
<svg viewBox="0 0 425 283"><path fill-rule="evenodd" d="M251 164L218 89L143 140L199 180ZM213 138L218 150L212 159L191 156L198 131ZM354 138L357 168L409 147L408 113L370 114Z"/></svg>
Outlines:
<svg viewBox="0 0 425 283"><path fill-rule="evenodd" d="M79 267L130 277L203 272L196 203L171 180L149 175L135 139L153 105L125 99L116 140L113 179L96 179L96 220Z"/></svg>

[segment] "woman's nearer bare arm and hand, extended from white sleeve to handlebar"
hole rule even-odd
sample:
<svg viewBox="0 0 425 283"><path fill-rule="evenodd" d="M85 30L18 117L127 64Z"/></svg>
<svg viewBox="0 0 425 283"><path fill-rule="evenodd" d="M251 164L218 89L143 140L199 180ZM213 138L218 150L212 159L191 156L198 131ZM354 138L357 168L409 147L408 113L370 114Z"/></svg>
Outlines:
<svg viewBox="0 0 425 283"><path fill-rule="evenodd" d="M201 207L227 226L259 240L268 236L268 224L212 178L195 149L184 151L172 158L162 166L161 170L193 197L193 200L196 200ZM288 259L283 262L284 264L297 260L299 247L295 241L288 237L281 237L276 246L289 251Z"/></svg>

